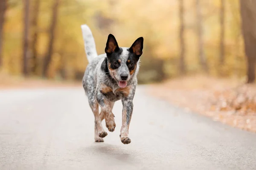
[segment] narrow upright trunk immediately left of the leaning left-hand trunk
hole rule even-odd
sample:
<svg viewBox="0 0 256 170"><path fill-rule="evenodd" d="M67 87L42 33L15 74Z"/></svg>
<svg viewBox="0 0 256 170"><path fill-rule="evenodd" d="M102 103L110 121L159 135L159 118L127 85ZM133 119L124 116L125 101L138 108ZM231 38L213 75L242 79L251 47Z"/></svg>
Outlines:
<svg viewBox="0 0 256 170"><path fill-rule="evenodd" d="M32 18L32 28L33 28L33 35L32 35L32 72L33 74L36 74L37 68L38 68L38 61L37 61L37 42L38 42L38 14L39 14L39 6L40 6L40 0L35 0L34 6L33 6L33 18Z"/></svg>

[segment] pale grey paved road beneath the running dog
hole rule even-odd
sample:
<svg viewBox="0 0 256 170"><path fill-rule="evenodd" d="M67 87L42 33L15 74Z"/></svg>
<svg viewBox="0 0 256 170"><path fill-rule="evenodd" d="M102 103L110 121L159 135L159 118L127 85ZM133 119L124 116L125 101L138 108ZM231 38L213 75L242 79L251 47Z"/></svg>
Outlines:
<svg viewBox="0 0 256 170"><path fill-rule="evenodd" d="M186 113L145 88L134 98L128 145L119 139L121 102L116 130L95 143L82 88L0 91L0 170L256 170L256 134Z"/></svg>

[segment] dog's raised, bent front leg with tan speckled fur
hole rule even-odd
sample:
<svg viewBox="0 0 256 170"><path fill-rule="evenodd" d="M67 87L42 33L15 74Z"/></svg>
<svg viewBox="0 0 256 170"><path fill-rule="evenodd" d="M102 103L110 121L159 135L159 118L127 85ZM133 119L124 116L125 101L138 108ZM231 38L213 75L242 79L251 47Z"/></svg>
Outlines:
<svg viewBox="0 0 256 170"><path fill-rule="evenodd" d="M101 111L105 115L106 127L110 132L113 132L115 130L116 123L114 120L114 115L112 113L111 103L108 101L108 99L105 98L104 94L102 94L100 91L96 93L96 99L99 103L99 106L101 107Z"/></svg>

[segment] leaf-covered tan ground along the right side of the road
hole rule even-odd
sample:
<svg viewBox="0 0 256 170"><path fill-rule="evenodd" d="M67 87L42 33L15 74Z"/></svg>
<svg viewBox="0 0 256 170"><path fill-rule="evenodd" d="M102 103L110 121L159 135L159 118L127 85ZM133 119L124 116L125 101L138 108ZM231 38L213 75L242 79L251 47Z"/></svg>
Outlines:
<svg viewBox="0 0 256 170"><path fill-rule="evenodd" d="M255 84L196 76L151 85L148 92L214 121L256 132Z"/></svg>

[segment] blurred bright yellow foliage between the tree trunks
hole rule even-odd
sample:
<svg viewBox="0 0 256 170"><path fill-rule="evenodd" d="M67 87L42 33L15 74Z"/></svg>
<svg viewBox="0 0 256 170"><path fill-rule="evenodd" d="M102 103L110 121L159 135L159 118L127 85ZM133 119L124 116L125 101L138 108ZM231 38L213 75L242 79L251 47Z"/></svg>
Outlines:
<svg viewBox="0 0 256 170"><path fill-rule="evenodd" d="M180 23L177 2L178 0L62 0L53 51L59 53L63 58L61 61L58 60L58 62L62 62L62 65L65 64L71 71L83 71L87 61L80 26L86 23L93 32L98 54L104 53L105 41L110 33L115 35L120 46L127 47L138 37L143 36L145 39L144 56L148 59L154 57L164 60L166 75L176 76L180 53L178 32ZM39 10L37 49L40 65L43 63L49 42L48 29L51 22L52 3L52 0L41 0ZM212 75L217 72L218 66L219 4L219 0L201 0L204 51ZM184 5L185 60L188 72L198 73L201 68L198 59L195 1L184 1ZM227 0L226 5L226 64L222 71L226 72L227 76L235 72L241 77L244 75L246 67L239 26L239 2L238 0ZM99 29L96 22L98 12L103 17L114 20L113 26L106 30ZM8 8L6 16L3 46L4 68L16 74L21 70L22 59L22 3ZM58 65L51 66L51 74L54 75L58 69L52 67L58 67ZM237 107L236 109L240 110L241 108Z"/></svg>

